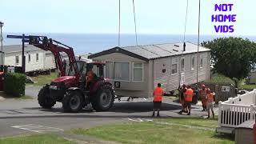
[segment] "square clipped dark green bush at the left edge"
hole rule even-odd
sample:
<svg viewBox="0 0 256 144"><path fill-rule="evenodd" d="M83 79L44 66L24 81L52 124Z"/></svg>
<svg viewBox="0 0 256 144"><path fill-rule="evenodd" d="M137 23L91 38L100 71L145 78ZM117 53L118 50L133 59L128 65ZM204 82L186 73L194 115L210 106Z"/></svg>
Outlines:
<svg viewBox="0 0 256 144"><path fill-rule="evenodd" d="M26 75L20 73L7 73L4 80L4 91L14 97L25 94Z"/></svg>

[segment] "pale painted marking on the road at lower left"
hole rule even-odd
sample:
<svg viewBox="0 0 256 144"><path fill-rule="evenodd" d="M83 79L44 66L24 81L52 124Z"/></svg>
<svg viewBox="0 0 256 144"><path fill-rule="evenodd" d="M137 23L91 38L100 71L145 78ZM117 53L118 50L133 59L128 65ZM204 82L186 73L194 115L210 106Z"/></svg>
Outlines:
<svg viewBox="0 0 256 144"><path fill-rule="evenodd" d="M35 125L35 124L11 126L11 127L16 128L16 129L21 129L21 130L29 130L29 131L33 131L35 133L43 133L46 131L64 131L63 129L60 129L57 127L41 126L41 125Z"/></svg>

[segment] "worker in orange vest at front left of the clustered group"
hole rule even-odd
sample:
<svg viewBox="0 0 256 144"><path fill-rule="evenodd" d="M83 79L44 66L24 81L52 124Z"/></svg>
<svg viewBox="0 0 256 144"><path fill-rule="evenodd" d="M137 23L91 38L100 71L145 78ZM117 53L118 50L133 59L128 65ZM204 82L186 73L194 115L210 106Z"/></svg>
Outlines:
<svg viewBox="0 0 256 144"><path fill-rule="evenodd" d="M191 114L191 103L192 103L193 96L194 96L194 91L192 90L192 87L189 85L189 86L187 86L187 90L186 90L186 93L185 93L185 104L184 104L184 108L183 108L183 110L180 111L178 114L182 114L182 112L184 112L186 106L187 106L188 109L189 109L189 112L188 112L187 115L190 115L190 114Z"/></svg>

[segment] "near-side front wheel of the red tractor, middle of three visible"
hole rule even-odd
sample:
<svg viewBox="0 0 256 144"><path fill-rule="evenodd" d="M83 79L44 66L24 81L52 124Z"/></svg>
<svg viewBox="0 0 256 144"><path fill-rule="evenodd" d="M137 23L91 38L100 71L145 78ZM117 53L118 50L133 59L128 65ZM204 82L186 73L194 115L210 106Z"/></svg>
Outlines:
<svg viewBox="0 0 256 144"><path fill-rule="evenodd" d="M82 110L83 98L78 90L69 90L62 99L62 107L65 112L77 113Z"/></svg>

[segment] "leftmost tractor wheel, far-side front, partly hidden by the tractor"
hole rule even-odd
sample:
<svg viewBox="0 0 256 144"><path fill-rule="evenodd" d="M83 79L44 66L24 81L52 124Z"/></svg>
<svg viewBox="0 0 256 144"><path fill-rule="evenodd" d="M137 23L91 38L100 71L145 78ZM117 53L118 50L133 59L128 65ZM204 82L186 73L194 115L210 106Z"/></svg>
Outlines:
<svg viewBox="0 0 256 144"><path fill-rule="evenodd" d="M49 86L43 86L42 89L38 93L38 103L42 108L50 109L56 103L52 98L50 98L50 90Z"/></svg>

